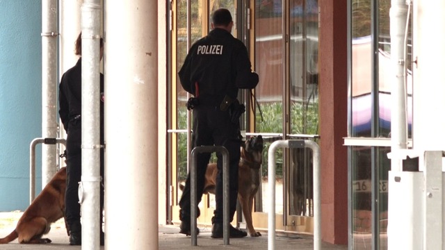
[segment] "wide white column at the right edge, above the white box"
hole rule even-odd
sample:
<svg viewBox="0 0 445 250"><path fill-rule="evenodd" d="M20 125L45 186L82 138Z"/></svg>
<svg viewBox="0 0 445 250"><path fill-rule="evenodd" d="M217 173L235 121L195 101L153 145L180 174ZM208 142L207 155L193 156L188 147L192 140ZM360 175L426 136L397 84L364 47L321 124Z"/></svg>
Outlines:
<svg viewBox="0 0 445 250"><path fill-rule="evenodd" d="M414 1L413 145L445 150L445 1Z"/></svg>

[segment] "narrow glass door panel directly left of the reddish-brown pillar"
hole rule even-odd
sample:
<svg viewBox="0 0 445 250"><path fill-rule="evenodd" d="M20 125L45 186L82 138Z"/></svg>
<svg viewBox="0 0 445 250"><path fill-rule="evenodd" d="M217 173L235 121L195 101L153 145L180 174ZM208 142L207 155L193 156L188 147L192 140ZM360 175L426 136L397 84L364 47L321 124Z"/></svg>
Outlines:
<svg viewBox="0 0 445 250"><path fill-rule="evenodd" d="M318 1L290 3L291 133L318 133ZM291 151L289 215L312 216L312 151Z"/></svg>

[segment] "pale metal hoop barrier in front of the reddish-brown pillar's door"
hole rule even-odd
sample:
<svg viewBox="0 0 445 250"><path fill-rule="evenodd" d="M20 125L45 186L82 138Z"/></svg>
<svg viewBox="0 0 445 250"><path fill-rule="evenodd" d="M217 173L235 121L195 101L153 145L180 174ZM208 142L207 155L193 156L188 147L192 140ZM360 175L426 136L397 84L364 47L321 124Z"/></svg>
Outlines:
<svg viewBox="0 0 445 250"><path fill-rule="evenodd" d="M314 163L314 249L321 249L320 147L312 140L278 140L268 150L270 207L268 210L268 249L275 250L275 151L278 147L312 149Z"/></svg>

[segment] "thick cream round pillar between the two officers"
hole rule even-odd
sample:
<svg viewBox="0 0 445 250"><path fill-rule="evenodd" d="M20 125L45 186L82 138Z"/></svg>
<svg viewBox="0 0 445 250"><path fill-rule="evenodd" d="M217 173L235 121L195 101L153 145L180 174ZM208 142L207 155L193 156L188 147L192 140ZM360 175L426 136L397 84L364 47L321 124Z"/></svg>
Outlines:
<svg viewBox="0 0 445 250"><path fill-rule="evenodd" d="M157 1L106 1L106 249L158 247Z"/></svg>

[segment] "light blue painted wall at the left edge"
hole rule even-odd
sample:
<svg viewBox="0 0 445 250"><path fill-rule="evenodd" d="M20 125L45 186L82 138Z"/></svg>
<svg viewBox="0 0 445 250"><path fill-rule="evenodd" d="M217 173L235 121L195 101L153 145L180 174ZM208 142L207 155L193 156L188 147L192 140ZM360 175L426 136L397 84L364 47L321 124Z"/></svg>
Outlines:
<svg viewBox="0 0 445 250"><path fill-rule="evenodd" d="M0 211L29 205L29 144L42 135L41 1L0 0ZM41 190L41 146L36 148Z"/></svg>

